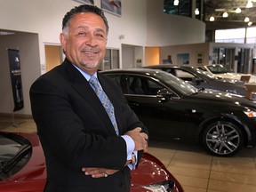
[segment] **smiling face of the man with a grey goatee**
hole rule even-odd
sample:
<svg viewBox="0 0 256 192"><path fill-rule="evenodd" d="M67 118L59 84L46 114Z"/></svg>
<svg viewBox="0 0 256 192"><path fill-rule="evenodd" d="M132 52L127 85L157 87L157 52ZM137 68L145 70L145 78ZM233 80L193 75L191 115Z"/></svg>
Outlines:
<svg viewBox="0 0 256 192"><path fill-rule="evenodd" d="M105 56L107 31L104 21L92 12L78 13L71 19L68 36L60 34L60 43L68 60L92 75Z"/></svg>

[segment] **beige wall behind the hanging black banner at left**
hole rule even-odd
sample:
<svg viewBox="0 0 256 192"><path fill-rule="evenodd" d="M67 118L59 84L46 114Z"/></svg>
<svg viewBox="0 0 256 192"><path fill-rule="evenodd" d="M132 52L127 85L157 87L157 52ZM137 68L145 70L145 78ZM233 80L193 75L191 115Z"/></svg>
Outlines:
<svg viewBox="0 0 256 192"><path fill-rule="evenodd" d="M12 83L6 49L20 51L20 70L24 108L16 114L31 114L29 88L41 74L39 62L38 36L36 34L18 33L15 36L0 36L0 113L12 113Z"/></svg>

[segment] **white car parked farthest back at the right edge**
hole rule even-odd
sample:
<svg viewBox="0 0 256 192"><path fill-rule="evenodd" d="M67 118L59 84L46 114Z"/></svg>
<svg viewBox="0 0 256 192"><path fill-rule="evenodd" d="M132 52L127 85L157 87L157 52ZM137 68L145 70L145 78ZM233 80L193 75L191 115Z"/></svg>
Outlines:
<svg viewBox="0 0 256 192"><path fill-rule="evenodd" d="M209 73L218 76L220 78L231 78L240 81L244 81L246 83L256 83L256 76L252 74L240 74L234 73L230 69L224 67L221 64L212 64L203 67L198 67L204 71L208 71Z"/></svg>

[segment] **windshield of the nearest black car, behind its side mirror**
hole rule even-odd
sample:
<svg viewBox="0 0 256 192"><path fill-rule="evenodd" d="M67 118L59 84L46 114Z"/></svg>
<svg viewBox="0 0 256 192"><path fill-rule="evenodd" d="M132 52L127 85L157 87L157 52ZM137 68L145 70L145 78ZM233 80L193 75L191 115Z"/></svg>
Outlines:
<svg viewBox="0 0 256 192"><path fill-rule="evenodd" d="M157 71L154 76L156 76L157 79L160 79L165 82L165 84L169 84L170 87L173 87L176 90L179 90L183 94L190 95L198 92L198 89L182 79L172 76L171 74L164 72L164 71Z"/></svg>

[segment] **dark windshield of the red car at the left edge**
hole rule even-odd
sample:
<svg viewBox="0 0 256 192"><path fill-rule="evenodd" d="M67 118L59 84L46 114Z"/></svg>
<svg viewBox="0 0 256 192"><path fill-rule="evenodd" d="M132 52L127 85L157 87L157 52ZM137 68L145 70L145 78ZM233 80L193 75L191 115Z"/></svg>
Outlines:
<svg viewBox="0 0 256 192"><path fill-rule="evenodd" d="M28 140L12 133L0 133L0 181L28 163L32 148Z"/></svg>

